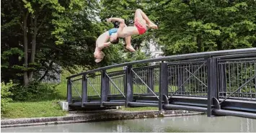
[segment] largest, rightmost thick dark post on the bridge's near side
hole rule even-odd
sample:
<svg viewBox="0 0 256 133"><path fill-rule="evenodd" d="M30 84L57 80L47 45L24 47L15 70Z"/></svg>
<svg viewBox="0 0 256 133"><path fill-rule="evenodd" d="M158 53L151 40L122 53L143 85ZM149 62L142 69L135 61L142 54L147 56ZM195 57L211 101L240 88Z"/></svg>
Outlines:
<svg viewBox="0 0 256 133"><path fill-rule="evenodd" d="M218 98L218 86L217 86L217 59L208 58L207 59L207 86L208 86L208 106L207 106L207 116L213 116L213 98Z"/></svg>

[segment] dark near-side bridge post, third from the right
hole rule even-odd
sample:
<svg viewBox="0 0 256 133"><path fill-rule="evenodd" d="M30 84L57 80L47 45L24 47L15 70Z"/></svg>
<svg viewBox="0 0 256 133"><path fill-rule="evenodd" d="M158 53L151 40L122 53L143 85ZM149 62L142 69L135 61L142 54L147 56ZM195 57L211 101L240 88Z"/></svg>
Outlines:
<svg viewBox="0 0 256 133"><path fill-rule="evenodd" d="M133 101L133 72L132 65L128 65L125 70L125 107L128 107L129 102Z"/></svg>

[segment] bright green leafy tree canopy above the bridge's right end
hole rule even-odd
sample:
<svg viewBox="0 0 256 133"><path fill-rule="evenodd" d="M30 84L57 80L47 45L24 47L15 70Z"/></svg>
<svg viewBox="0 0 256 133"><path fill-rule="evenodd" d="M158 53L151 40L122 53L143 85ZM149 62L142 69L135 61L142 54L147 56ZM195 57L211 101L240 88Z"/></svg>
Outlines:
<svg viewBox="0 0 256 133"><path fill-rule="evenodd" d="M159 43L165 55L253 47L256 1L159 1Z"/></svg>

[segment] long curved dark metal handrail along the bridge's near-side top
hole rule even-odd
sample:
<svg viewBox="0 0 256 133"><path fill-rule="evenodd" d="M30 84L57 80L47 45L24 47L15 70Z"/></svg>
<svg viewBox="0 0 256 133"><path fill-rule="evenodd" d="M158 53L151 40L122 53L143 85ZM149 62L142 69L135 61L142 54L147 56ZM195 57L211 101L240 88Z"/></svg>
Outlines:
<svg viewBox="0 0 256 133"><path fill-rule="evenodd" d="M79 75L85 75L89 73L94 73L100 70L107 70L110 68L118 68L128 65L135 65L138 63L152 63L157 61L164 61L164 60L187 60L187 59L193 59L193 58L211 58L218 55L237 55L237 54L249 54L249 53L256 53L256 47L253 48L244 48L244 49L236 49L236 50L219 50L219 51L210 51L210 52L195 52L195 53L189 53L189 54L182 54L182 55L170 55L160 58L153 58L153 59L146 59L146 60L136 60L131 61L127 63L121 63L121 64L115 64L115 65L109 65L102 68L97 68L94 70L88 70L87 72L78 73L75 75L71 75L67 77L66 79L74 78Z"/></svg>

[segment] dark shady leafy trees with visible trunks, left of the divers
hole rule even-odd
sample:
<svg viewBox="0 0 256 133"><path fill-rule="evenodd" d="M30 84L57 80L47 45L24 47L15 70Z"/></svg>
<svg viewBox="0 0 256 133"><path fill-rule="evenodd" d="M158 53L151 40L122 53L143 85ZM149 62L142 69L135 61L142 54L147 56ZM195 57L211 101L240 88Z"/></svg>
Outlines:
<svg viewBox="0 0 256 133"><path fill-rule="evenodd" d="M92 19L97 4L97 1L1 1L4 81L15 78L27 85L39 70L47 73L53 69L53 63L64 68L85 63L86 67L95 67L94 60L86 56L92 57L89 52L101 32ZM80 57L78 53L85 54Z"/></svg>

